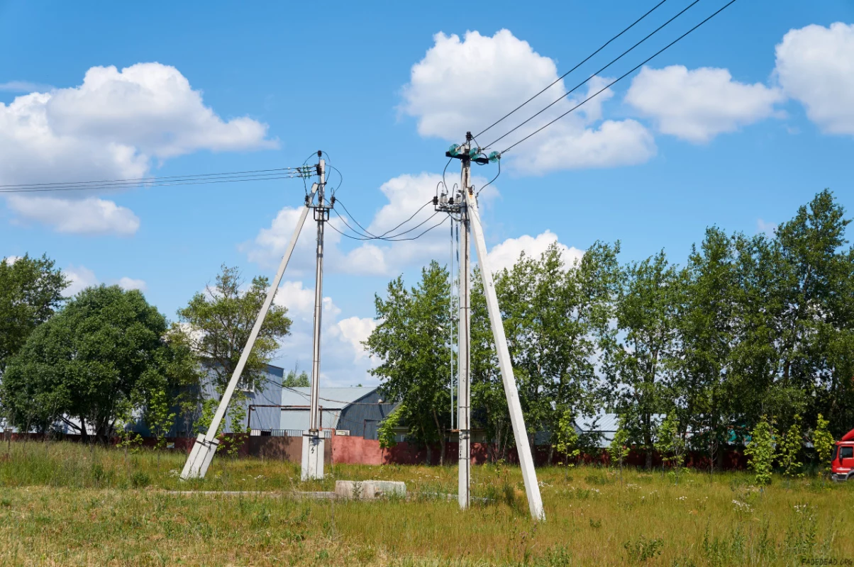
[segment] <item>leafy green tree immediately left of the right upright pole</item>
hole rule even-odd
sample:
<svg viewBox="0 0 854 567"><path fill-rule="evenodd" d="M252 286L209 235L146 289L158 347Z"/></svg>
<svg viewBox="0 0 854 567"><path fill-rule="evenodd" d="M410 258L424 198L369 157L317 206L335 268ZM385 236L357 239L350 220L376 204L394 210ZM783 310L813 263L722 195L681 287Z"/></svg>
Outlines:
<svg viewBox="0 0 854 567"><path fill-rule="evenodd" d="M386 297L376 296L377 328L366 346L381 364L371 374L382 381L388 400L406 406L402 416L409 436L427 448L438 442L444 463L450 420L448 330L453 324L447 270L436 261L421 272L421 281L406 289L402 278L389 283Z"/></svg>

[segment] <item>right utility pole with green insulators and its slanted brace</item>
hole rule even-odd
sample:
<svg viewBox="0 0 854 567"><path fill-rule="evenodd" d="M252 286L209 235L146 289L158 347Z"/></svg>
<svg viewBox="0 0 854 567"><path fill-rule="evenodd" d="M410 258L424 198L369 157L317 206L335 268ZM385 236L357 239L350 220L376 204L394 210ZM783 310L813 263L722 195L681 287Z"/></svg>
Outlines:
<svg viewBox="0 0 854 567"><path fill-rule="evenodd" d="M528 441L528 431L525 429L522 405L519 403L516 377L513 376L510 351L507 348L507 338L504 333L504 324L501 321L498 297L495 295L492 272L488 267L483 225L481 225L480 213L477 210L477 196L474 193L474 187L471 185L471 161L486 164L489 161L500 160L500 155L497 152L488 157L483 155L480 148L472 147L471 140L471 132L465 132L465 143L462 145L454 144L445 154L446 157L458 159L462 166L462 186L459 192L457 195L448 197L443 190L442 196L436 196L433 200L436 210L459 213L459 224L462 229L459 235L459 507L467 508L471 500L471 349L469 348L471 341L471 266L469 239L471 235L474 235L477 262L481 269L483 292L486 295L489 312L489 323L492 326L495 349L498 353L501 381L504 384L507 407L510 410L510 421L513 427L513 436L516 439L519 465L522 467L528 506L531 517L535 520L545 520L546 514L542 508L540 486L536 480L534 458Z"/></svg>

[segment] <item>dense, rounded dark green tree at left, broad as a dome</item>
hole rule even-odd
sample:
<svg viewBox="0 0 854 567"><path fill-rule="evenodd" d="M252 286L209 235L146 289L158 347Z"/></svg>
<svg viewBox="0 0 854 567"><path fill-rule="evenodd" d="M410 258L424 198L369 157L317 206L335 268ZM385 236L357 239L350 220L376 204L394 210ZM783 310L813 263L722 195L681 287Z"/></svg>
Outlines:
<svg viewBox="0 0 854 567"><path fill-rule="evenodd" d="M121 415L141 410L147 393L165 381L192 389L198 375L187 351L173 349L166 319L137 290L88 288L39 325L3 374L4 403L47 429L61 421L106 441ZM75 424L71 418L77 418Z"/></svg>

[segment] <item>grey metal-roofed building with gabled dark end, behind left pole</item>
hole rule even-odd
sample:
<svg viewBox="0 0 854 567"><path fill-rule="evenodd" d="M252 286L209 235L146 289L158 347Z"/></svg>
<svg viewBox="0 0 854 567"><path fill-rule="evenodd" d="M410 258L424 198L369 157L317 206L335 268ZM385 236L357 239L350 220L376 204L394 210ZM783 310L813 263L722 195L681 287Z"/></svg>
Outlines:
<svg viewBox="0 0 854 567"><path fill-rule="evenodd" d="M397 407L385 403L376 386L321 388L319 398L321 427L366 439L377 439L377 426ZM282 389L279 429L307 430L310 400L311 388Z"/></svg>

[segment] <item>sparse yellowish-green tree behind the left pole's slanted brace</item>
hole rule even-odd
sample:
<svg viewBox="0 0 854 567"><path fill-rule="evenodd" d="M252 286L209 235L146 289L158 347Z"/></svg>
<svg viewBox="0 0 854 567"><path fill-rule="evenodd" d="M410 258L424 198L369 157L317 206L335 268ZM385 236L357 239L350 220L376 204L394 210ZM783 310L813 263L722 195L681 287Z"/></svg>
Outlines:
<svg viewBox="0 0 854 567"><path fill-rule="evenodd" d="M197 293L187 307L178 310L179 324L173 330L184 334L182 340L201 359L220 394L237 367L269 288L269 280L263 277L254 278L249 289L243 289L244 283L237 268L223 265L216 284L208 285L204 293ZM279 341L290 333L286 313L285 307L270 306L243 369L244 388L263 389L266 365Z"/></svg>

